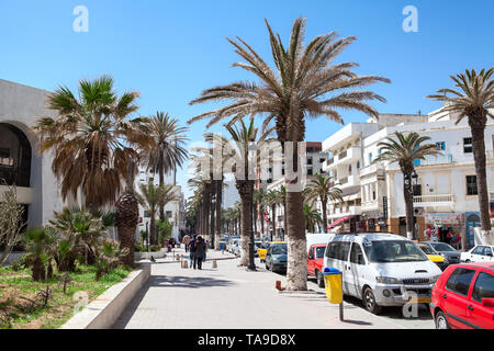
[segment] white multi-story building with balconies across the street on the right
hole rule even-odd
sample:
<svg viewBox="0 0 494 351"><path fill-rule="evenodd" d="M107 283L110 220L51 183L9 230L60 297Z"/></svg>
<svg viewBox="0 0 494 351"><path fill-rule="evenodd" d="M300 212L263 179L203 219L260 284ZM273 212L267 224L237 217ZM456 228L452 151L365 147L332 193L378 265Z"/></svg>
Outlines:
<svg viewBox="0 0 494 351"><path fill-rule="evenodd" d="M425 229L436 228L445 241L451 230L467 235L472 246L472 228L480 222L472 137L467 120L456 122L454 115L441 110L429 115L383 114L379 121L350 124L324 141L323 149L334 155L325 169L345 194L343 204L328 206L332 225L355 224L369 230L406 235L403 173L396 163L374 160L381 152L380 141L395 132L416 132L429 137L427 143L435 144L441 155L415 161L415 230L426 239ZM487 184L494 196L492 121L485 131L485 148Z"/></svg>

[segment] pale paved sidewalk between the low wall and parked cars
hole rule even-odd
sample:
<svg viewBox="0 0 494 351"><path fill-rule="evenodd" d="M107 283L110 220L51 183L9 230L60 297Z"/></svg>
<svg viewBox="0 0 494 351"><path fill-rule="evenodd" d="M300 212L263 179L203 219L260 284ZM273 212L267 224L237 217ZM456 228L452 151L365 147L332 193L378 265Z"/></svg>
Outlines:
<svg viewBox="0 0 494 351"><path fill-rule="evenodd" d="M183 252L183 250L181 250ZM180 253L180 252L179 252ZM183 252L184 253L184 252ZM203 270L181 269L170 257L151 267L151 276L115 324L115 329L327 329L404 328L345 303L346 321L325 295L280 294L276 281L284 278L266 271L248 272L231 254L209 251ZM170 264L161 264L168 262Z"/></svg>

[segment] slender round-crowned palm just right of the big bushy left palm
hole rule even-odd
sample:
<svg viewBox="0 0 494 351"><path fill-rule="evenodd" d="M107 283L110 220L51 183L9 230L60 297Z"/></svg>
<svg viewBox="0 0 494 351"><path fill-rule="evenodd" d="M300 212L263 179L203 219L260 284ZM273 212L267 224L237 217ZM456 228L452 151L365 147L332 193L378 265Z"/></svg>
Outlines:
<svg viewBox="0 0 494 351"><path fill-rule="evenodd" d="M165 174L181 167L189 154L184 148L188 128L180 127L178 120L169 114L156 112L149 117L147 135L150 147L144 152L147 169L159 174L159 185L165 186ZM159 219L165 219L165 207L159 207Z"/></svg>

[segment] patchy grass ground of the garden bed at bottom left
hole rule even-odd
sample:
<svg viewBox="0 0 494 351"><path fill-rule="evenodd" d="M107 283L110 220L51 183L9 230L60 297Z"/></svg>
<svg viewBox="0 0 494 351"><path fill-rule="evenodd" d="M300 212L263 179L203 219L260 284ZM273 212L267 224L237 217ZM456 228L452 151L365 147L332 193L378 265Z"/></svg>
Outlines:
<svg viewBox="0 0 494 351"><path fill-rule="evenodd" d="M130 272L126 268L119 268L97 282L94 267L79 265L75 273L69 273L64 294L63 273L55 271L52 279L33 282L29 269L14 271L11 267L0 268L0 329L59 328L74 315L77 292L86 292L91 302ZM52 298L44 307L41 292L47 287L52 291Z"/></svg>

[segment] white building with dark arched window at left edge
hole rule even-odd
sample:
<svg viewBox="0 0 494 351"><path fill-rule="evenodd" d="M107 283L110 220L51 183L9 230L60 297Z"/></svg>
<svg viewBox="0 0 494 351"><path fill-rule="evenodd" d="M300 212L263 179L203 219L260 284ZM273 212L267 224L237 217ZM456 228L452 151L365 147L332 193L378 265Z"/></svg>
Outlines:
<svg viewBox="0 0 494 351"><path fill-rule="evenodd" d="M45 107L49 92L0 79L0 181L16 185L27 227L47 223L64 202L52 172L53 158L40 152L31 127L38 117L55 113ZM0 192L5 186L0 184Z"/></svg>

